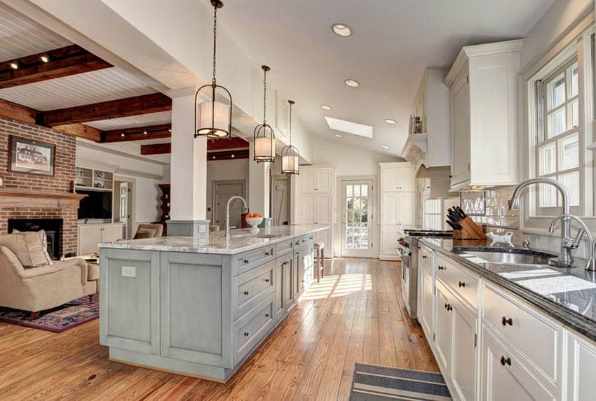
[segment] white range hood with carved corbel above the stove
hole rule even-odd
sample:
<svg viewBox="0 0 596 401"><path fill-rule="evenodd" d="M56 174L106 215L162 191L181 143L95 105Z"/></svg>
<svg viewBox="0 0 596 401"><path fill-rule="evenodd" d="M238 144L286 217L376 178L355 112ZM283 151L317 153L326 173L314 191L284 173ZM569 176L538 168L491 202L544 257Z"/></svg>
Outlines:
<svg viewBox="0 0 596 401"><path fill-rule="evenodd" d="M447 71L426 69L414 98L412 115L420 118L421 133L410 132L402 150L402 157L414 165L418 162L426 167L451 164L451 114L445 76Z"/></svg>

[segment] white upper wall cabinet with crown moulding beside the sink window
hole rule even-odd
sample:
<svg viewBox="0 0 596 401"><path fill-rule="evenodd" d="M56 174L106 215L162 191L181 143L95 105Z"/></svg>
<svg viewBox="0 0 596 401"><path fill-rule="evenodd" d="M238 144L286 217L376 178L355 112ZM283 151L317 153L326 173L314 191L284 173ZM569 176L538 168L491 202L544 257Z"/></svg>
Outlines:
<svg viewBox="0 0 596 401"><path fill-rule="evenodd" d="M453 190L518 181L521 48L521 40L466 46L445 78L451 110Z"/></svg>

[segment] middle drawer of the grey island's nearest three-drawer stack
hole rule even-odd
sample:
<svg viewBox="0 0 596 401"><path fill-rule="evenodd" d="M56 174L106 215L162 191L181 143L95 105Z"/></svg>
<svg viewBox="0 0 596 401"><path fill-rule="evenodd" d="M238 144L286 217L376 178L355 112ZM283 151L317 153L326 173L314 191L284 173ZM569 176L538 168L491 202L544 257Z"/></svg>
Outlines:
<svg viewBox="0 0 596 401"><path fill-rule="evenodd" d="M275 262L249 270L233 278L233 320L246 314L275 291Z"/></svg>

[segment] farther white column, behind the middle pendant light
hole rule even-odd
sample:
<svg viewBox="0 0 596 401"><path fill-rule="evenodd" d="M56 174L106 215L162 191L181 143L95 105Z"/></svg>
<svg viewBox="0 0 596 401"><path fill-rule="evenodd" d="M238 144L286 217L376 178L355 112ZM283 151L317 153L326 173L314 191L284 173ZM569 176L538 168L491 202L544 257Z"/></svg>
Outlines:
<svg viewBox="0 0 596 401"><path fill-rule="evenodd" d="M255 156L253 141L250 141L249 148L248 209L250 209L250 213L261 213L265 218L269 218L271 166L269 162L257 163L253 160Z"/></svg>

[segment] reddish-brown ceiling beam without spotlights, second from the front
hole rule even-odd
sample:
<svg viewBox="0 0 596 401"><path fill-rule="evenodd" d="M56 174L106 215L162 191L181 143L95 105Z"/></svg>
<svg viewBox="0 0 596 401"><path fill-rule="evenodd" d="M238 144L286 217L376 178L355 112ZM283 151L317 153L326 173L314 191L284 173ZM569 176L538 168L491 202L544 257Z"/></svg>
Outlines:
<svg viewBox="0 0 596 401"><path fill-rule="evenodd" d="M168 110L172 110L172 99L165 96L165 94L153 93L127 99L102 101L101 103L87 104L86 106L44 111L39 113L37 123L46 127L54 127L76 122L108 120L110 118L130 117L130 115Z"/></svg>

